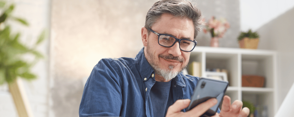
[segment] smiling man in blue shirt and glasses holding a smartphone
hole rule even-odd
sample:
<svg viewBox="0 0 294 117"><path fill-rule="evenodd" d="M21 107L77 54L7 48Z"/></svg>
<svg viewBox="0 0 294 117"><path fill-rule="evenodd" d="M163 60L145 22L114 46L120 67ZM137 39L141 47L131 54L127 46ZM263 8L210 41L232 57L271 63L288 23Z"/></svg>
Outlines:
<svg viewBox="0 0 294 117"><path fill-rule="evenodd" d="M209 99L187 111L198 77L183 75L197 42L201 12L184 0L156 2L141 29L144 47L135 58L101 59L89 76L79 114L84 116L201 116ZM223 99L215 117L247 117L241 101Z"/></svg>

